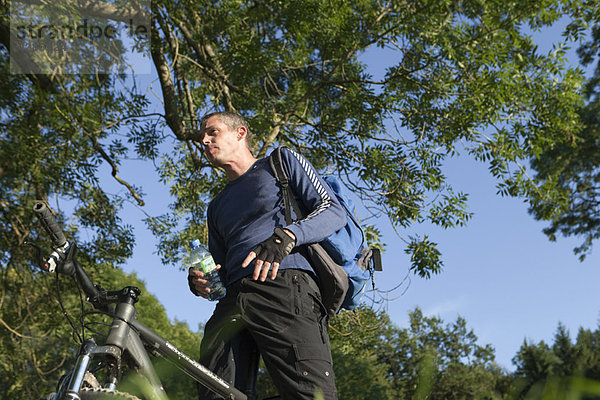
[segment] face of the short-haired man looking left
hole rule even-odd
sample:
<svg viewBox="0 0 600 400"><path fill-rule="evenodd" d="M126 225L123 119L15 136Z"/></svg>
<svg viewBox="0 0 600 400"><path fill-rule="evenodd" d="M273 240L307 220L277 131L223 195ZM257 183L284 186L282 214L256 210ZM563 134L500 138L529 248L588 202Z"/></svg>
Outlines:
<svg viewBox="0 0 600 400"><path fill-rule="evenodd" d="M221 122L217 115L206 121L202 144L204 145L204 154L212 165L223 166L235 155L240 146L240 132L238 132L240 129L244 128L231 129L227 124Z"/></svg>

